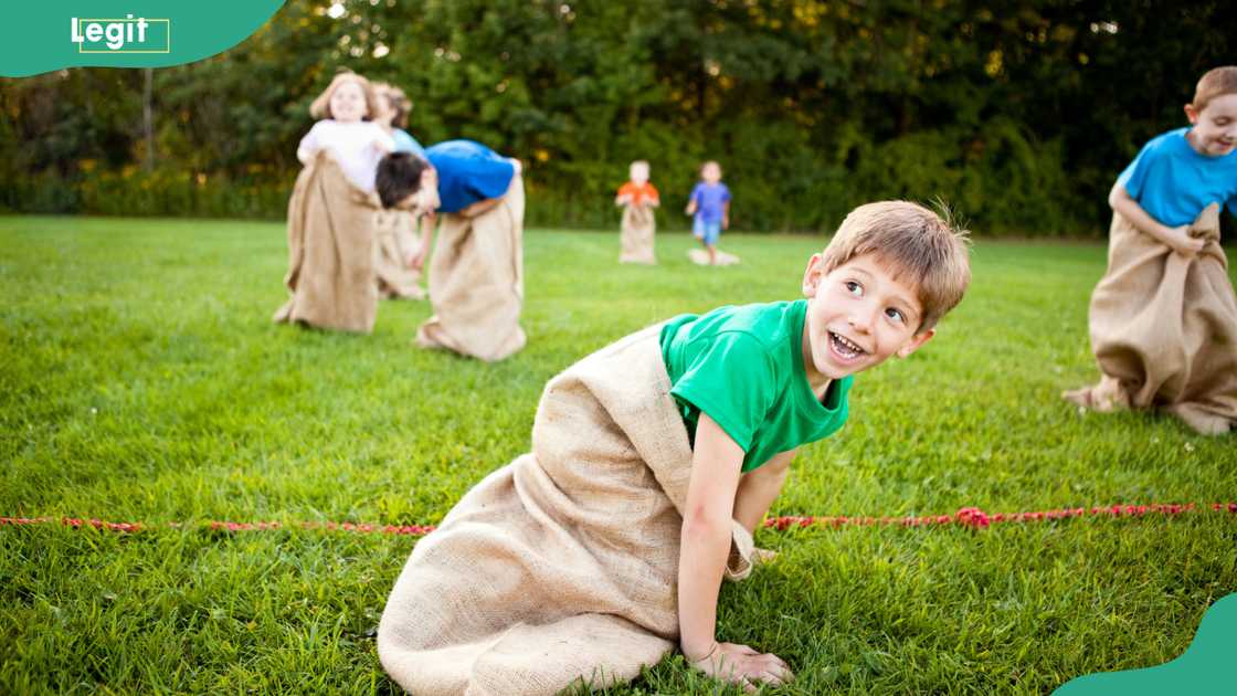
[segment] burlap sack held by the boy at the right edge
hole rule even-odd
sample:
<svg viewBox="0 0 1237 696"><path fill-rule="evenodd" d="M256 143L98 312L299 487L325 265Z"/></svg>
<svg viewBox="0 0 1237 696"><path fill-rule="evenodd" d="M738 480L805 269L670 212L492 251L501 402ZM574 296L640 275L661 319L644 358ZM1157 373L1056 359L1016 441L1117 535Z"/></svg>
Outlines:
<svg viewBox="0 0 1237 696"><path fill-rule="evenodd" d="M1066 399L1111 411L1164 409L1217 435L1237 421L1237 296L1220 246L1220 207L1190 234L1194 258L1173 251L1115 214L1108 270L1091 296L1091 349L1102 373Z"/></svg>

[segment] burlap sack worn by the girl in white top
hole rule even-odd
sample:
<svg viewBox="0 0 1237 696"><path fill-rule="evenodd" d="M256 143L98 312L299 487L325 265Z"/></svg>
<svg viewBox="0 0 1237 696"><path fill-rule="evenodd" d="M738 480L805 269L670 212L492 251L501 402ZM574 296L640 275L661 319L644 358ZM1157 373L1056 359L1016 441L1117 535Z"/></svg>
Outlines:
<svg viewBox="0 0 1237 696"><path fill-rule="evenodd" d="M301 170L288 199L288 274L292 297L275 312L276 322L318 328L374 329L372 193L353 186L325 151Z"/></svg>

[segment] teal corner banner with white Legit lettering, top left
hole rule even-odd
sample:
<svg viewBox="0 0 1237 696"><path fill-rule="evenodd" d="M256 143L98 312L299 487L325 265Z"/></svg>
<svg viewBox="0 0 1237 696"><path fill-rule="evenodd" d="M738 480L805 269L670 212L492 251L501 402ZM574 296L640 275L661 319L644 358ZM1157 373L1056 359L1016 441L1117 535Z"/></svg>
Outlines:
<svg viewBox="0 0 1237 696"><path fill-rule="evenodd" d="M0 76L83 66L160 68L221 53L257 31L283 0L47 0L5 7Z"/></svg>

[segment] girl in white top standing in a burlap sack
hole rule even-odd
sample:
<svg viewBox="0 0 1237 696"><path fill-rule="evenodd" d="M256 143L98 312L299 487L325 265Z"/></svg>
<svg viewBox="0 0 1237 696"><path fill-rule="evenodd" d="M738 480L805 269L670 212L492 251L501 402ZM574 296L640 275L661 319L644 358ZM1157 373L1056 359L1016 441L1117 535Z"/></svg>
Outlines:
<svg viewBox="0 0 1237 696"><path fill-rule="evenodd" d="M292 297L275 312L294 322L369 333L377 292L374 277L374 180L395 140L370 119L377 110L364 77L345 72L309 107L322 119L301 139L304 170L288 201L288 272Z"/></svg>

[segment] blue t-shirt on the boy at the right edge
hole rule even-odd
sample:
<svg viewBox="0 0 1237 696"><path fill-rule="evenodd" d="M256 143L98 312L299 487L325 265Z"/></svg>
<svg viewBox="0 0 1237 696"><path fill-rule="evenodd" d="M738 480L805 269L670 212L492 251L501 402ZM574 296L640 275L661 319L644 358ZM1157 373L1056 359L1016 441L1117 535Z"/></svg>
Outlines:
<svg viewBox="0 0 1237 696"><path fill-rule="evenodd" d="M1237 152L1200 155L1185 139L1189 130L1153 137L1117 177L1131 198L1168 227L1192 223L1211 203L1237 214Z"/></svg>

